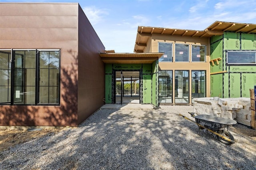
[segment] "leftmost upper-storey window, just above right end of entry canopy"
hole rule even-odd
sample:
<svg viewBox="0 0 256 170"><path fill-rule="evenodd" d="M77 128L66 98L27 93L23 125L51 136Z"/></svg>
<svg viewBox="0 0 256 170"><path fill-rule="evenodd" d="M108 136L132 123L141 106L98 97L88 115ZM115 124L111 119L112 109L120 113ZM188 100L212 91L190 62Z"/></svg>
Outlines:
<svg viewBox="0 0 256 170"><path fill-rule="evenodd" d="M172 62L172 43L158 42L158 52L164 53L158 60L160 62Z"/></svg>

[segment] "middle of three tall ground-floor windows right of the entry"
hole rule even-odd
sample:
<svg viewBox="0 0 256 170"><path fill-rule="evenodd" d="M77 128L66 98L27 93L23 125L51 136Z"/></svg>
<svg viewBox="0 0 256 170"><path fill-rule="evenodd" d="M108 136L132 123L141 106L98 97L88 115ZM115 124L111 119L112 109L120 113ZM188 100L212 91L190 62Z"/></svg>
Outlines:
<svg viewBox="0 0 256 170"><path fill-rule="evenodd" d="M175 103L189 103L188 70L175 70Z"/></svg>

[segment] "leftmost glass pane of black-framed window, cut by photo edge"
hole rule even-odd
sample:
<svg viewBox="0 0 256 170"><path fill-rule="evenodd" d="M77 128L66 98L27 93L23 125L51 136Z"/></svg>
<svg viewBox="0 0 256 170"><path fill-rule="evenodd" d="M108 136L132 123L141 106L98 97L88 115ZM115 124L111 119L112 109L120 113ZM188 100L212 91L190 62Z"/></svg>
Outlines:
<svg viewBox="0 0 256 170"><path fill-rule="evenodd" d="M0 51L0 104L11 102L11 51Z"/></svg>

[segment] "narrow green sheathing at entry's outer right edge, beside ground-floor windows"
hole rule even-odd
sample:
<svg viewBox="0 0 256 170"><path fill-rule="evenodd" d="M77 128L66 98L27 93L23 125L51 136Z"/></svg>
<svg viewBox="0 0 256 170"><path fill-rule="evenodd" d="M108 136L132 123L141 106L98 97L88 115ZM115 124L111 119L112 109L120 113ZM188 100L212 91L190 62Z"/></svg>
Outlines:
<svg viewBox="0 0 256 170"><path fill-rule="evenodd" d="M152 104L158 106L158 61L152 63Z"/></svg>

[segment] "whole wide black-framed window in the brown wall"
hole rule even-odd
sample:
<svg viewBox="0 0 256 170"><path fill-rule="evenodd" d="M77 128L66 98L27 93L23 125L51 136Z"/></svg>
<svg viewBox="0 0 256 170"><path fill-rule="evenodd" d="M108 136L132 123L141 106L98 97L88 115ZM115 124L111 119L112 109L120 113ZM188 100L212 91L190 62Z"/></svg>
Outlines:
<svg viewBox="0 0 256 170"><path fill-rule="evenodd" d="M5 57L0 57L0 70L4 73L0 74L0 104L59 104L59 50L13 50L12 57L11 51L0 50L2 54Z"/></svg>

